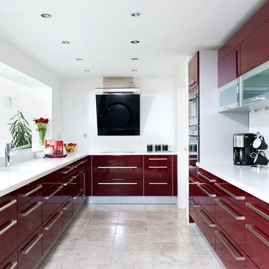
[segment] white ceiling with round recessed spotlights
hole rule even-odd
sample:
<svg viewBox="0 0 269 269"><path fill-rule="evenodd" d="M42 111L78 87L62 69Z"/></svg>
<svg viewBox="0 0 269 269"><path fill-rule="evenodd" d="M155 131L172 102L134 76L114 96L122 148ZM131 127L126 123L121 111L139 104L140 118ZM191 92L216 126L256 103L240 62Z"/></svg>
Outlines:
<svg viewBox="0 0 269 269"><path fill-rule="evenodd" d="M0 35L61 78L171 78L185 56L218 49L265 1L1 0Z"/></svg>

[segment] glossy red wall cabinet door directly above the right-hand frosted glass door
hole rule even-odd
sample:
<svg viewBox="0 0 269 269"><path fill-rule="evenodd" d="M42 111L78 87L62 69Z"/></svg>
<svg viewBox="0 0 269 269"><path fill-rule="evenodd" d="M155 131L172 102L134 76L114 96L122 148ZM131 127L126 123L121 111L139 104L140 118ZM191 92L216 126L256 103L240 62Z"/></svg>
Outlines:
<svg viewBox="0 0 269 269"><path fill-rule="evenodd" d="M269 61L269 21L244 40L240 47L241 75Z"/></svg>

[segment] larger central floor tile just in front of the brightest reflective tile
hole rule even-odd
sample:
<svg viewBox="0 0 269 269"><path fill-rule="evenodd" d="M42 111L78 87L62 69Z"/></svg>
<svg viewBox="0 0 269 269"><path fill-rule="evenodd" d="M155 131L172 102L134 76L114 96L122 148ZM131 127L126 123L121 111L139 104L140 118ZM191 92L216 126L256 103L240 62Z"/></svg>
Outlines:
<svg viewBox="0 0 269 269"><path fill-rule="evenodd" d="M115 235L113 251L150 251L148 234L118 233Z"/></svg>

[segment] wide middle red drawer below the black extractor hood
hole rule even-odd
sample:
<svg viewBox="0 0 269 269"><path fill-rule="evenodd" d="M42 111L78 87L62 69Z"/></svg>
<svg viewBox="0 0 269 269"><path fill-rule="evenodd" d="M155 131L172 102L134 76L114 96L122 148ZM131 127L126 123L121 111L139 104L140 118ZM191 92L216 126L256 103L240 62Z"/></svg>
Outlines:
<svg viewBox="0 0 269 269"><path fill-rule="evenodd" d="M93 179L143 179L142 163L94 163Z"/></svg>

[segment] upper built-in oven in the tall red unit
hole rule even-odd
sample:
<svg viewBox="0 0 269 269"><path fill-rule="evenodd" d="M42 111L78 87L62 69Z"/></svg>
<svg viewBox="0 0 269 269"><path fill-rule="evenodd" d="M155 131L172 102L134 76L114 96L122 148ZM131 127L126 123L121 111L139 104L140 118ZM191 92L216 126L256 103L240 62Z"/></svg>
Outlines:
<svg viewBox="0 0 269 269"><path fill-rule="evenodd" d="M189 126L199 125L199 87L189 91Z"/></svg>

